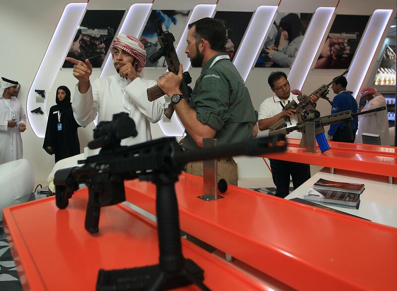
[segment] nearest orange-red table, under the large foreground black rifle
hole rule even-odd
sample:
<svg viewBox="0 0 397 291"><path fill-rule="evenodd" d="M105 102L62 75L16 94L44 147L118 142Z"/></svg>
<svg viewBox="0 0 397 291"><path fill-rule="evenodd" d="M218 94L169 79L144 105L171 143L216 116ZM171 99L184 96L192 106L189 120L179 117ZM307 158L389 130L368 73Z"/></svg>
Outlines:
<svg viewBox="0 0 397 291"><path fill-rule="evenodd" d="M84 229L87 190L65 210L55 197L5 208L4 230L24 290L95 290L99 269L158 263L156 225L123 204L101 209L99 233ZM211 290L270 290L264 283L183 239L183 253L204 270ZM199 290L187 287L182 290Z"/></svg>

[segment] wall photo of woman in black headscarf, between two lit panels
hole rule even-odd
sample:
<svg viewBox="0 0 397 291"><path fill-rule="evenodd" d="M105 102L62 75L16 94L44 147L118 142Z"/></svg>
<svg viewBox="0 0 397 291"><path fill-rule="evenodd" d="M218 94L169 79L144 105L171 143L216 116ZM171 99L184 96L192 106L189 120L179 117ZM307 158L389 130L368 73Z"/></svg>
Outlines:
<svg viewBox="0 0 397 291"><path fill-rule="evenodd" d="M291 67L313 13L277 13L255 67Z"/></svg>

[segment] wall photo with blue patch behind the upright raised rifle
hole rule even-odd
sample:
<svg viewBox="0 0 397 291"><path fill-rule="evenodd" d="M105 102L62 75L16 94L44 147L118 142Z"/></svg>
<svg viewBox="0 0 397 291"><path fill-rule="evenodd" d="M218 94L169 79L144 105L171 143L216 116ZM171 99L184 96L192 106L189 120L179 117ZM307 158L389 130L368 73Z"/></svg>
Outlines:
<svg viewBox="0 0 397 291"><path fill-rule="evenodd" d="M175 44L178 44L181 34L186 27L190 10L152 10L143 28L140 41L146 51L145 67L165 67L166 61L162 57L154 63L148 58L160 49L157 41L157 30L154 24L155 19L160 19L163 30L168 30L175 37Z"/></svg>

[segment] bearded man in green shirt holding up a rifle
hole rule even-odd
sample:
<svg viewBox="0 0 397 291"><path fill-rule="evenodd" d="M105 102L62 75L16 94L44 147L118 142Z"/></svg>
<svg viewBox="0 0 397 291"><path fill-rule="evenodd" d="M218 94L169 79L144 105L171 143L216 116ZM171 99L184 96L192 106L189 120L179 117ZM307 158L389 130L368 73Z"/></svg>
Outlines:
<svg viewBox="0 0 397 291"><path fill-rule="evenodd" d="M258 133L258 117L248 89L229 56L222 53L225 41L226 29L217 19L202 18L189 24L185 53L193 67L202 67L190 101L183 98L179 89L182 64L178 75L168 72L157 80L163 92L172 96L171 102L186 128L183 140L186 150L202 147L203 138L216 138L220 145L244 141ZM229 170L235 177L226 180L236 185L237 165L233 159L227 160L223 162L229 162ZM219 165L218 170L223 172Z"/></svg>

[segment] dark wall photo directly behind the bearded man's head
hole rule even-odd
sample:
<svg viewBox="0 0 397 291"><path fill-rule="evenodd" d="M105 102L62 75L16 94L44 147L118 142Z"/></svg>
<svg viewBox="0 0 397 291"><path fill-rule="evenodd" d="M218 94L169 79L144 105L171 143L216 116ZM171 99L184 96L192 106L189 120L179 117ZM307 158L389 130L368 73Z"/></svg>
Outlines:
<svg viewBox="0 0 397 291"><path fill-rule="evenodd" d="M217 11L215 13L214 18L222 20L226 26L227 34L224 51L231 60L236 55L253 14L254 12L240 11Z"/></svg>

